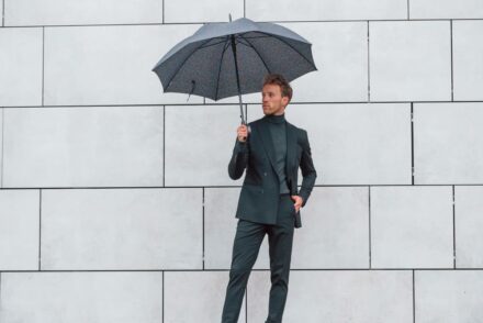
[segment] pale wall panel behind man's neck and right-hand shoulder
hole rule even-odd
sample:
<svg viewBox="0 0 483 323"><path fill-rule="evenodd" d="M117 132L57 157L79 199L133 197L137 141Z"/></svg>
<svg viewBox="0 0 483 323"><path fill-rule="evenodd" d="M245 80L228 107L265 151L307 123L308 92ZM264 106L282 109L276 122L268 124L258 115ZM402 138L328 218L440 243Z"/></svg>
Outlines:
<svg viewBox="0 0 483 323"><path fill-rule="evenodd" d="M249 121L263 115L248 110ZM289 104L285 113L308 133L317 185L411 183L409 104Z"/></svg>

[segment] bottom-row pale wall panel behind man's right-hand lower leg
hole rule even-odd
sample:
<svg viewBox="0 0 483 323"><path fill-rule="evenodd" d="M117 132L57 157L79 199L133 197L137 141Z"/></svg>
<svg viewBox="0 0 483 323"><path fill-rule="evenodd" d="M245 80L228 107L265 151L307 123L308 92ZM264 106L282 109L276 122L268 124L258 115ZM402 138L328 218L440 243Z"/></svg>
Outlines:
<svg viewBox="0 0 483 323"><path fill-rule="evenodd" d="M248 283L248 322L267 319L269 290L269 272L252 272ZM283 322L412 323L412 272L292 271Z"/></svg>

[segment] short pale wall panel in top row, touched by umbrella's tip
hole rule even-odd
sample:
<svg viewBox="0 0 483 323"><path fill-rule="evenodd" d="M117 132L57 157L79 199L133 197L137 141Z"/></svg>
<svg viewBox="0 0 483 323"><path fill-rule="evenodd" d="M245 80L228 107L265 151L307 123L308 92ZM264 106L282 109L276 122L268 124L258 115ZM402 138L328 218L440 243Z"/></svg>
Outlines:
<svg viewBox="0 0 483 323"><path fill-rule="evenodd" d="M189 10L187 10L189 8ZM228 22L244 16L244 0L165 0L165 22Z"/></svg>

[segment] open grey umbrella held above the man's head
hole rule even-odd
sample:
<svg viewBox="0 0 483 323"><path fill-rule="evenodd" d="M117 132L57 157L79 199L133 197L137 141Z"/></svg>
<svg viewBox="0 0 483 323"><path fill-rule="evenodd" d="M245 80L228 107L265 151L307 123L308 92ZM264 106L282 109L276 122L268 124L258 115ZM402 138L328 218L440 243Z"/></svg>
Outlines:
<svg viewBox="0 0 483 323"><path fill-rule="evenodd" d="M232 19L229 19L232 20ZM291 81L317 70L312 44L281 25L246 18L207 23L172 47L153 68L165 92L193 93L217 101L258 92L263 76Z"/></svg>

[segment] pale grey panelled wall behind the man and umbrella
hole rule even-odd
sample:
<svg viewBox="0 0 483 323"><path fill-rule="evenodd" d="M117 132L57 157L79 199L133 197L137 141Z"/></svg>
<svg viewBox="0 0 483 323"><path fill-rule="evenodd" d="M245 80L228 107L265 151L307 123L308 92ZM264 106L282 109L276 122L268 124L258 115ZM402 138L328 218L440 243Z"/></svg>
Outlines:
<svg viewBox="0 0 483 323"><path fill-rule="evenodd" d="M150 68L228 13L319 69L287 110L319 176L284 322L483 322L482 0L1 1L2 323L220 321L237 98ZM267 314L266 242L255 268L239 322Z"/></svg>

